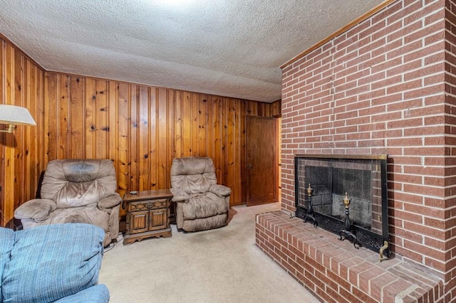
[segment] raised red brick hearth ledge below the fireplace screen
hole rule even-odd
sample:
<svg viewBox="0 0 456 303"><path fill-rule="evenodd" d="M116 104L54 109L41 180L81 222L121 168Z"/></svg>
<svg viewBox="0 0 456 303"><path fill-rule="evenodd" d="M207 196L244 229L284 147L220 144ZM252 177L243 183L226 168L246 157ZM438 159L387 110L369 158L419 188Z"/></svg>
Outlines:
<svg viewBox="0 0 456 303"><path fill-rule="evenodd" d="M443 281L399 258L378 253L286 211L257 215L256 243L274 262L325 302L437 302Z"/></svg>

